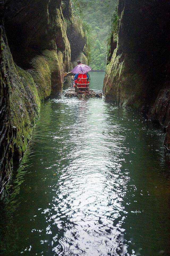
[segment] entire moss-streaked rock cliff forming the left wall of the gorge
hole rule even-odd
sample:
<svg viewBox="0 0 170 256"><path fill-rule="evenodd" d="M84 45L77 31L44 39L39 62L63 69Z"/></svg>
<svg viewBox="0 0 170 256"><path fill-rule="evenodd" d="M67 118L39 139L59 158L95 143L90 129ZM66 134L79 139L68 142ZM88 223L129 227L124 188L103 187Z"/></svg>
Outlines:
<svg viewBox="0 0 170 256"><path fill-rule="evenodd" d="M13 162L19 163L27 148L39 118L40 102L62 93L63 72L73 67L71 60L78 57L84 63L88 61L82 24L73 14L71 1L67 3L65 11L61 0L10 0L1 5L3 68L8 84L3 91L1 75L1 93L8 96L2 118L8 147L6 160L0 166L1 185L8 177L12 153ZM71 40L72 36L76 36L75 40Z"/></svg>

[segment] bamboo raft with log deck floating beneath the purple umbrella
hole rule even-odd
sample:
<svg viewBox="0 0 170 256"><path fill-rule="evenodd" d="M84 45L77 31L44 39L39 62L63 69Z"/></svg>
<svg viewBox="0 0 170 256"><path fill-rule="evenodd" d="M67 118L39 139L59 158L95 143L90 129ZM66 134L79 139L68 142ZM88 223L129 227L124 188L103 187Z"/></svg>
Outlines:
<svg viewBox="0 0 170 256"><path fill-rule="evenodd" d="M71 78L71 88L65 93L65 97L69 98L101 98L102 93L96 93L94 90L90 90L89 83L76 84L74 87L74 76ZM79 87L81 86L81 87Z"/></svg>

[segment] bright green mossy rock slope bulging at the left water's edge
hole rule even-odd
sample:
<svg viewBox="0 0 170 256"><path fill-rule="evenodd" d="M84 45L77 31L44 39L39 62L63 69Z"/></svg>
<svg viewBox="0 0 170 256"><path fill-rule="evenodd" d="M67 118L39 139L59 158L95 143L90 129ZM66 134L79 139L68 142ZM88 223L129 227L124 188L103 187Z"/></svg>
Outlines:
<svg viewBox="0 0 170 256"><path fill-rule="evenodd" d="M32 76L15 65L3 35L4 72L10 90L10 120L14 127L14 160L19 162L31 139L32 127L39 117L40 100Z"/></svg>

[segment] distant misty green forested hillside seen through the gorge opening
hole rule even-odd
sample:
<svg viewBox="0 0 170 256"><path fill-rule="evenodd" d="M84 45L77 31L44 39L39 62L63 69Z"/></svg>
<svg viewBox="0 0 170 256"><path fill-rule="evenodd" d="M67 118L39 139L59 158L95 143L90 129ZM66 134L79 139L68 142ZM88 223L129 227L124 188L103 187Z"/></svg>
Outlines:
<svg viewBox="0 0 170 256"><path fill-rule="evenodd" d="M116 2L114 0L79 0L84 19L92 28L90 65L93 70L105 70L108 30L111 27L111 15L117 6Z"/></svg>

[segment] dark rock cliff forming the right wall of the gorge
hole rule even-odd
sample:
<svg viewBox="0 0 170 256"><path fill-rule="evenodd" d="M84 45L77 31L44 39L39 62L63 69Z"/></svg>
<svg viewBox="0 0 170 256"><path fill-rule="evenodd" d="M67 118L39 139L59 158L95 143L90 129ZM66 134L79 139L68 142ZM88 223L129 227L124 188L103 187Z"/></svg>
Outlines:
<svg viewBox="0 0 170 256"><path fill-rule="evenodd" d="M169 11L167 1L119 0L118 27L111 35L103 86L108 100L143 111L166 127L166 145L170 123Z"/></svg>

